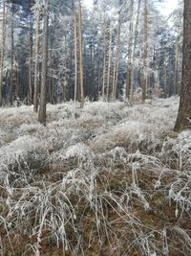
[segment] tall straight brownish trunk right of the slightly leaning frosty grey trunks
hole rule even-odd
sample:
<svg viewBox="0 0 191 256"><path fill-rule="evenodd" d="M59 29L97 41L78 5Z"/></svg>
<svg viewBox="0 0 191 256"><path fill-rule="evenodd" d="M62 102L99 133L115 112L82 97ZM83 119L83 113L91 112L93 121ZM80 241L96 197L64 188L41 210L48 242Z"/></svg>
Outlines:
<svg viewBox="0 0 191 256"><path fill-rule="evenodd" d="M142 103L146 100L148 83L148 1L144 0L144 50L143 50L143 80L142 80Z"/></svg>

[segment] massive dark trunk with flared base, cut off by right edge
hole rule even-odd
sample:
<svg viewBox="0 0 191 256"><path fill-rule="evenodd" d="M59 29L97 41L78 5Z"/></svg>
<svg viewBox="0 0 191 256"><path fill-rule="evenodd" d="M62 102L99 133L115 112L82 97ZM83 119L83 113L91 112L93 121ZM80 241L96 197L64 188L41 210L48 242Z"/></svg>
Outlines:
<svg viewBox="0 0 191 256"><path fill-rule="evenodd" d="M180 107L175 130L191 128L191 1L184 0Z"/></svg>

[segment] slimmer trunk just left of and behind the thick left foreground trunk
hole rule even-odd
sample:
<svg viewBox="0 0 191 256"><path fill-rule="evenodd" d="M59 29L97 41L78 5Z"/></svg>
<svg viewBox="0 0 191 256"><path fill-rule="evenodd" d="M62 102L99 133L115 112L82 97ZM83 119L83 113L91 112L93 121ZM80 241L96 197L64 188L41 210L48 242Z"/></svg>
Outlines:
<svg viewBox="0 0 191 256"><path fill-rule="evenodd" d="M34 91L33 91L33 110L38 110L39 92L39 48L40 48L40 0L36 0L36 31L35 31L35 60L34 60Z"/></svg>

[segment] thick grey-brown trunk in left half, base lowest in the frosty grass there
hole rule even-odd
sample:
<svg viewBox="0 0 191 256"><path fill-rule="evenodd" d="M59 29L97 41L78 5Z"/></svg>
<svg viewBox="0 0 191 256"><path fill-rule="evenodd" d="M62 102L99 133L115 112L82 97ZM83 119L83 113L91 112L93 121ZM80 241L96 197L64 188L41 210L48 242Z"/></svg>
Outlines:
<svg viewBox="0 0 191 256"><path fill-rule="evenodd" d="M43 125L46 125L49 5L50 5L50 0L46 0L45 10L44 10L42 81L41 81L41 93L40 93L40 107L38 112L38 121Z"/></svg>

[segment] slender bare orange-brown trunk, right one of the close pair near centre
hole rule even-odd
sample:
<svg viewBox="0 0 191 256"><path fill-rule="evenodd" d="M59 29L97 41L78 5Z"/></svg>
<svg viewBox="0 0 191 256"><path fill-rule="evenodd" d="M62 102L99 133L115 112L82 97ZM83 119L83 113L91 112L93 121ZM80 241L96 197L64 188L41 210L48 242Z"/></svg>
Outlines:
<svg viewBox="0 0 191 256"><path fill-rule="evenodd" d="M80 106L84 106L84 84L83 84L83 31L82 31L82 8L79 0L79 77L80 77Z"/></svg>

